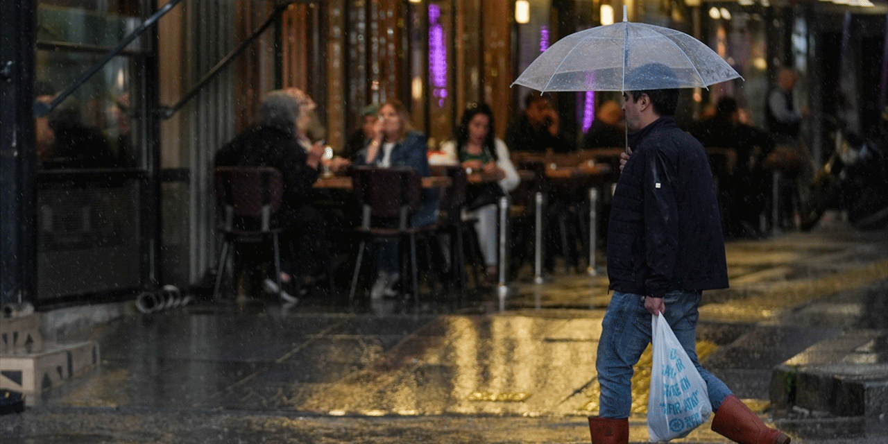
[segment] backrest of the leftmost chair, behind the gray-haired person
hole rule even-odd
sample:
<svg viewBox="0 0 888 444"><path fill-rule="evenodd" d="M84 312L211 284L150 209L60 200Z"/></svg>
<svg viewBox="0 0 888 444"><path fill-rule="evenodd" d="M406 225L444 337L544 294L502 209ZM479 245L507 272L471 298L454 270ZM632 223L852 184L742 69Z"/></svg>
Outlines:
<svg viewBox="0 0 888 444"><path fill-rule="evenodd" d="M283 179L273 167L218 167L215 171L216 198L224 210L223 227L271 229L272 216L281 208Z"/></svg>

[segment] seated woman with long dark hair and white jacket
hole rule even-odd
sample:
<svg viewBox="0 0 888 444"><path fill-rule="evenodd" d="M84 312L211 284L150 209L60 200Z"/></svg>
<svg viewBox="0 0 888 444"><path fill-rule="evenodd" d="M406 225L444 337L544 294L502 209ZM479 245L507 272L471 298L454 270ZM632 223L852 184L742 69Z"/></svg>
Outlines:
<svg viewBox="0 0 888 444"><path fill-rule="evenodd" d="M496 195L510 193L518 186L518 171L509 159L509 149L503 140L494 134L494 115L487 104L480 104L465 110L456 128L456 140L441 144L441 151L453 161L458 161L466 170L483 171L496 178L496 193L483 186L472 187L466 205L472 215L478 218L475 230L481 245L481 254L487 266L487 284L496 282ZM493 198L493 202L490 202Z"/></svg>

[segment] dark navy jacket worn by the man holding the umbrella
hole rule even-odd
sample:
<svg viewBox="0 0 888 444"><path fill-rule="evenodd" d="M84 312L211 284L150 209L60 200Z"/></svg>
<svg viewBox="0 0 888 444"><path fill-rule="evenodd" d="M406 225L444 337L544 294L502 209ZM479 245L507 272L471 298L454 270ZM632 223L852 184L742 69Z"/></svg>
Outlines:
<svg viewBox="0 0 888 444"><path fill-rule="evenodd" d="M706 150L671 116L630 134L629 145L607 228L610 289L663 297L675 289L727 288Z"/></svg>

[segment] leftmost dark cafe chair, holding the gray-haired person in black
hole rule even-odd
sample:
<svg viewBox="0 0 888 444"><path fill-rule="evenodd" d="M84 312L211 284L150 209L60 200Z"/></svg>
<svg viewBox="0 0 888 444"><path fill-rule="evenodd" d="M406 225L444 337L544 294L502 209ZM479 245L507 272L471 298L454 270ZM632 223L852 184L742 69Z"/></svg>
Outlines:
<svg viewBox="0 0 888 444"><path fill-rule="evenodd" d="M266 242L274 246L274 276L281 291L281 227L273 218L281 208L283 180L272 167L218 167L215 170L216 198L221 210L219 230L223 245L219 253L213 298L219 294L228 255L234 243ZM234 273L233 273L234 274Z"/></svg>

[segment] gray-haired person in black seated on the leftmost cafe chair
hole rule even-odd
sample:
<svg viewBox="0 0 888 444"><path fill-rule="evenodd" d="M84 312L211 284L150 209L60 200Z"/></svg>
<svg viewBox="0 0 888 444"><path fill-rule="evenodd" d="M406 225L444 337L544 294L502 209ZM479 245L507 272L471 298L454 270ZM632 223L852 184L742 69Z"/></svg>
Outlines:
<svg viewBox="0 0 888 444"><path fill-rule="evenodd" d="M287 303L297 302L297 295L305 293L330 260L324 217L310 204L324 149L305 133L305 116L314 107L312 99L295 88L267 93L258 123L219 149L215 159L217 167L270 166L281 171L283 202L274 217L285 229L281 298ZM272 279L266 279L264 287L277 292Z"/></svg>

